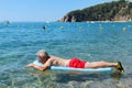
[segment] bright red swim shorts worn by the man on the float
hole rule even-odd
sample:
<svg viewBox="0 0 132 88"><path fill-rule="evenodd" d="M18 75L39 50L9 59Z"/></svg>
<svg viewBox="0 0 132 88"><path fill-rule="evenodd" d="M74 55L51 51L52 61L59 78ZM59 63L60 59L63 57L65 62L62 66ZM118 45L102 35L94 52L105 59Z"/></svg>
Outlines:
<svg viewBox="0 0 132 88"><path fill-rule="evenodd" d="M80 61L78 58L72 58L69 62L69 67L74 67L74 68L85 68L85 64L86 62Z"/></svg>

